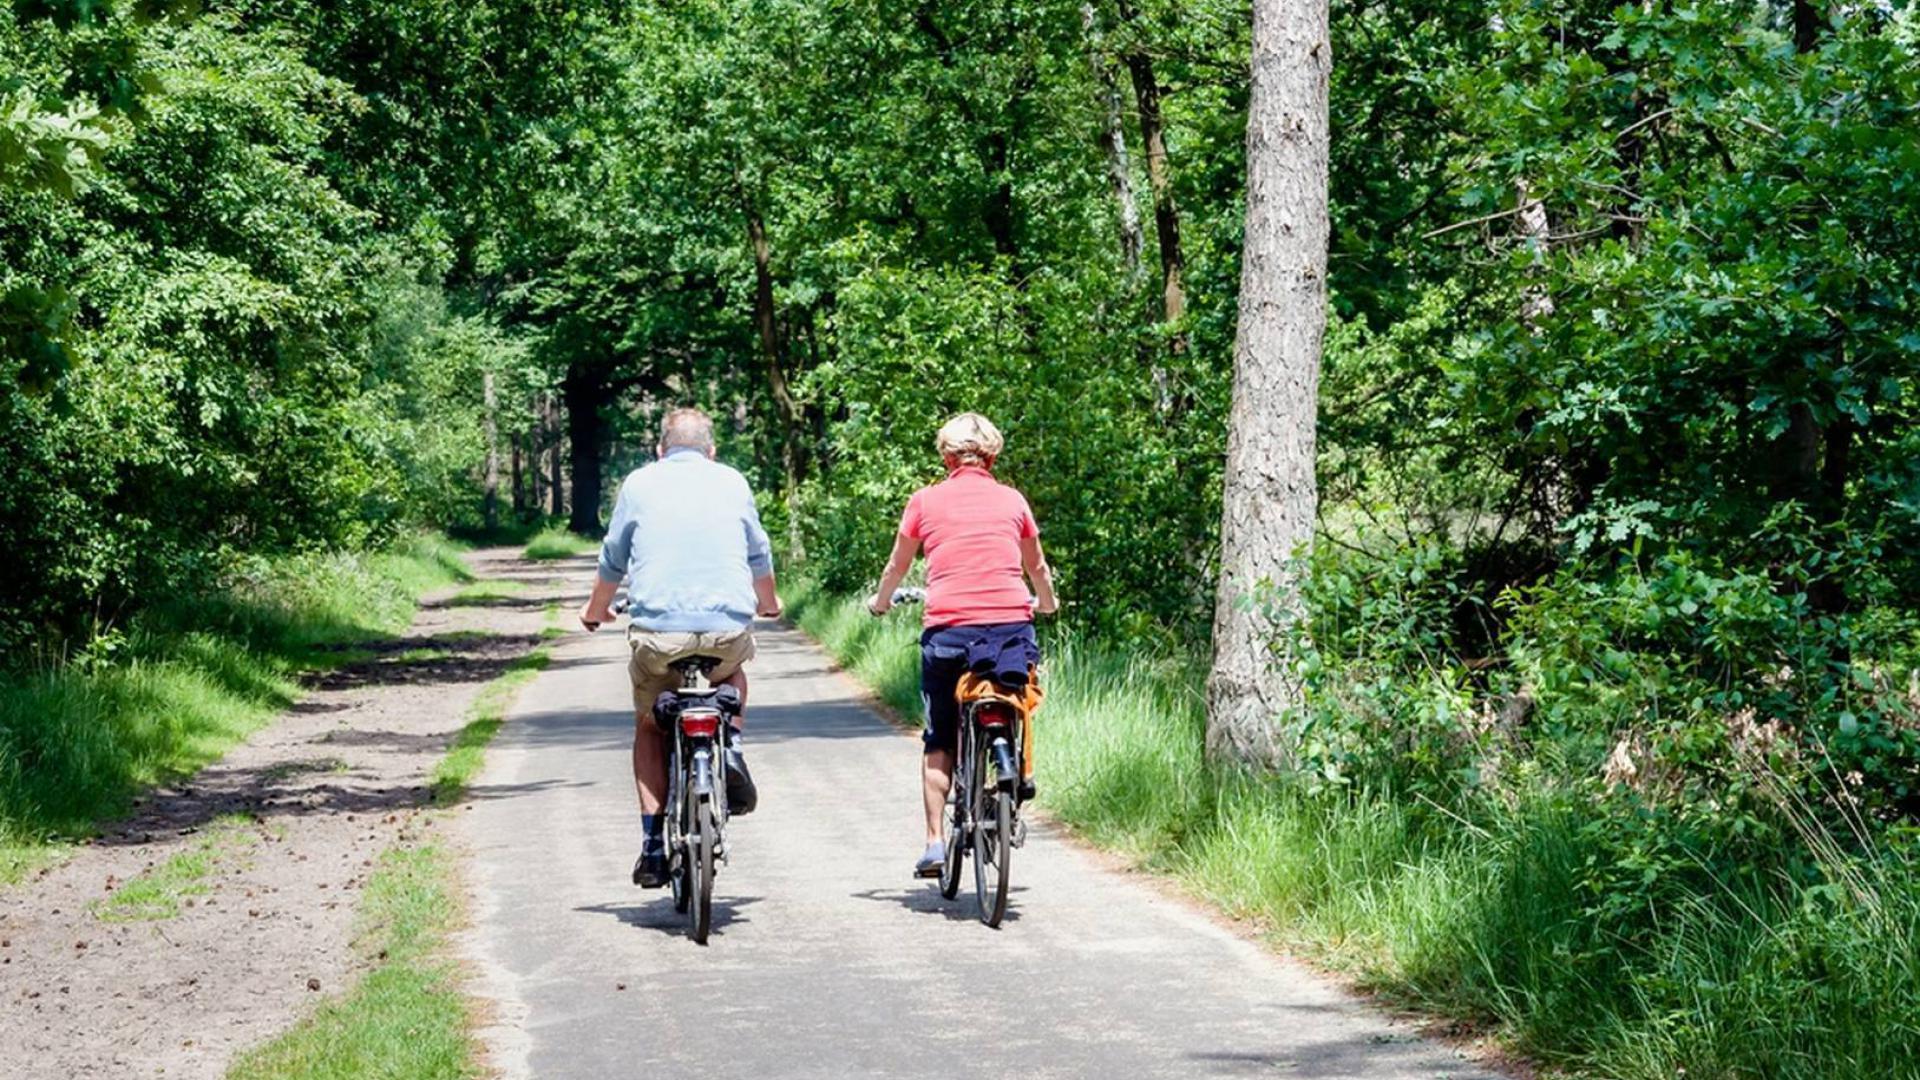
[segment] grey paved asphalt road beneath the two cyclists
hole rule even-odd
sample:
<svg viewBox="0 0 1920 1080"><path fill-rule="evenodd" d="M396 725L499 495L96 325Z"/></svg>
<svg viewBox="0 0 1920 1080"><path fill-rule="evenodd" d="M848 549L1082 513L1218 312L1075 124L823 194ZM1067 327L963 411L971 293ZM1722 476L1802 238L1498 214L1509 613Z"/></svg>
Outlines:
<svg viewBox="0 0 1920 1080"><path fill-rule="evenodd" d="M1486 1076L1046 828L981 926L972 890L910 878L918 742L793 630L762 628L749 667L760 809L695 945L628 884L622 659L618 632L561 642L463 815L509 1076Z"/></svg>

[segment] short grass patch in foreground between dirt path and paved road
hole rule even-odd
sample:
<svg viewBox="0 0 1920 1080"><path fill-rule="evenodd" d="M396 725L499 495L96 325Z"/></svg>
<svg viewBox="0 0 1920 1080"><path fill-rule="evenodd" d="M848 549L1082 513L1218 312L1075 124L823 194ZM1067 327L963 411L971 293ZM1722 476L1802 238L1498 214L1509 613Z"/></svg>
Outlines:
<svg viewBox="0 0 1920 1080"><path fill-rule="evenodd" d="M280 1038L248 1051L230 1080L455 1080L480 1076L472 1019L445 959L459 924L453 859L434 846L380 855L359 909L357 949L374 963Z"/></svg>

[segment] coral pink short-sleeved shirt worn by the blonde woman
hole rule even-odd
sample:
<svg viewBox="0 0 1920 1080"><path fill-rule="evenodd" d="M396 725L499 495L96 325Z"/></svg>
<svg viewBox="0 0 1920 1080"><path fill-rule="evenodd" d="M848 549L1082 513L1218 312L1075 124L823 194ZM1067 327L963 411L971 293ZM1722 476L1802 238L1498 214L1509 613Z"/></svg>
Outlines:
<svg viewBox="0 0 1920 1080"><path fill-rule="evenodd" d="M975 465L914 492L900 536L927 550L927 626L1033 621L1020 542L1039 536L1025 496Z"/></svg>

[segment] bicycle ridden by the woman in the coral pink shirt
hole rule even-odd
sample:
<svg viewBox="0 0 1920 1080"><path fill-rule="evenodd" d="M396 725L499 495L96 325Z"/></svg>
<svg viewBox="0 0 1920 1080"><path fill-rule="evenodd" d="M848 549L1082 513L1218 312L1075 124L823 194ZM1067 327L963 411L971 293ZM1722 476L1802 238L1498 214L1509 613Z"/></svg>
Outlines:
<svg viewBox="0 0 1920 1080"><path fill-rule="evenodd" d="M924 603L925 590L900 588L893 603ZM979 920L1000 926L1012 890L1012 853L1025 846L1020 819L1021 748L1027 717L996 698L960 698L960 746L954 780L947 788L947 861L941 863L941 896L960 894L966 849L973 849L973 896Z"/></svg>

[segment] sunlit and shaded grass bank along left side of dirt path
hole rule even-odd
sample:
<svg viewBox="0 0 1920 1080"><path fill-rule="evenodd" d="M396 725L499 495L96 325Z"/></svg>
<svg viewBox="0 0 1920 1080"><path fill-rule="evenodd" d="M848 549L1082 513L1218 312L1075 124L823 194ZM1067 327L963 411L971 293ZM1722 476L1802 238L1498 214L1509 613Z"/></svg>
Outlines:
<svg viewBox="0 0 1920 1080"><path fill-rule="evenodd" d="M188 776L288 707L298 673L367 655L419 596L468 580L420 536L363 555L263 561L232 586L146 611L63 665L0 680L0 882Z"/></svg>

